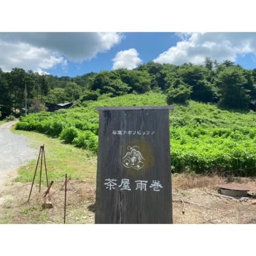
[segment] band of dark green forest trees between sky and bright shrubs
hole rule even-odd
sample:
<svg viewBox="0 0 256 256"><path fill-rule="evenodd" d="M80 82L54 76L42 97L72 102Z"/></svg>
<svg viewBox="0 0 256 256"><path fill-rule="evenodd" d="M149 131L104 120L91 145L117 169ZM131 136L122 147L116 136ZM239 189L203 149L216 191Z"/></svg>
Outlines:
<svg viewBox="0 0 256 256"><path fill-rule="evenodd" d="M25 112L25 88L29 112L44 110L44 103L73 102L86 105L100 95L116 97L155 91L166 94L168 104L193 100L218 103L228 110L256 110L256 68L246 70L226 60L204 65L148 62L133 70L88 73L77 77L54 77L13 68L0 68L0 112L2 117Z"/></svg>

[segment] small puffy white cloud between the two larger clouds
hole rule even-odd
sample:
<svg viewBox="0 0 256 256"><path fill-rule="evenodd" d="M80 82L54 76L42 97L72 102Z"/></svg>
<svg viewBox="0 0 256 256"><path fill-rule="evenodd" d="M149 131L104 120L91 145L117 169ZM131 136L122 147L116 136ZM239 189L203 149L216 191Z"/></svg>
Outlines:
<svg viewBox="0 0 256 256"><path fill-rule="evenodd" d="M136 68L138 65L142 64L142 60L138 57L138 52L136 49L129 49L125 51L119 51L116 53L116 57L113 59L113 66L112 69L117 68L127 68L133 69Z"/></svg>

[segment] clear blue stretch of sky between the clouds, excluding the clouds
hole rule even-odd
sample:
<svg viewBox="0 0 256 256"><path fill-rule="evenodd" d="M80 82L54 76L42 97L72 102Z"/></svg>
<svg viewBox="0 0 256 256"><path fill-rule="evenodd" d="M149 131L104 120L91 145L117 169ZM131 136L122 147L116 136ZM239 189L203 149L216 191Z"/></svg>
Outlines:
<svg viewBox="0 0 256 256"><path fill-rule="evenodd" d="M177 40L175 33L122 33L120 43L115 44L109 51L99 53L96 57L81 64L68 61L68 65L64 70L61 65L57 65L55 68L47 70L47 72L54 73L54 75L66 74L75 76L90 72L98 73L103 70L111 71L116 54L129 49L136 49L141 63L146 63L154 60L157 55L166 51L170 45L175 45Z"/></svg>

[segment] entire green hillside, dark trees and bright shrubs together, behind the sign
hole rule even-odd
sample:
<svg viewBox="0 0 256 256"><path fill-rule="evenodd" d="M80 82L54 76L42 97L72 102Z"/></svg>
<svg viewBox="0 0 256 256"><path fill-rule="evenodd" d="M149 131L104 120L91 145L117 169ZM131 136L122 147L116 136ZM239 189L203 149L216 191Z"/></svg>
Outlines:
<svg viewBox="0 0 256 256"><path fill-rule="evenodd" d="M50 113L43 111L46 102L73 102L73 107ZM0 70L1 118L21 116L17 129L46 133L94 153L98 106L175 105L170 111L173 172L255 175L255 104L256 68L228 60L205 58L205 65L182 66L149 62L132 71L79 77Z"/></svg>

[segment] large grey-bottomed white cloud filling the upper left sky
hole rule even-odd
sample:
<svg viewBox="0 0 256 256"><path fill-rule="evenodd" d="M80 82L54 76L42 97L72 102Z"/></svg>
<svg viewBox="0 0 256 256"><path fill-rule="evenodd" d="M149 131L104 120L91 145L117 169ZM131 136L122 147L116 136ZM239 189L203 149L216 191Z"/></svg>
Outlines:
<svg viewBox="0 0 256 256"><path fill-rule="evenodd" d="M67 60L82 62L110 50L122 40L118 33L0 33L0 67L42 71Z"/></svg>

